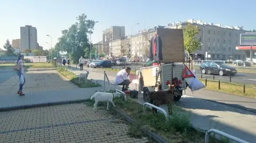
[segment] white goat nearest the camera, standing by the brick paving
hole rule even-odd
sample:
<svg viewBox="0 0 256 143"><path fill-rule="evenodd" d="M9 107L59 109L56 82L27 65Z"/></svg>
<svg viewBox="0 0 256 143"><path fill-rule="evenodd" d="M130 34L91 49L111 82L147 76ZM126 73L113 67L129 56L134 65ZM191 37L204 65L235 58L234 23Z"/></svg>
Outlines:
<svg viewBox="0 0 256 143"><path fill-rule="evenodd" d="M109 92L96 92L93 96L91 96L91 100L94 98L95 103L93 105L93 110L97 110L97 104L98 102L107 102L107 110L109 110L109 102L113 104L114 107L116 105L113 102L113 99L116 97L120 97L121 94L118 92L115 93L109 93Z"/></svg>

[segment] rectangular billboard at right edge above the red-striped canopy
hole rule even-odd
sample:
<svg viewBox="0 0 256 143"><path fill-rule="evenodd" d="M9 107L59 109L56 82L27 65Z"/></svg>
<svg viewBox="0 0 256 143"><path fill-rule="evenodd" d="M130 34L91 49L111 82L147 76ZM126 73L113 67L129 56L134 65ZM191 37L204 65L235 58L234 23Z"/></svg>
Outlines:
<svg viewBox="0 0 256 143"><path fill-rule="evenodd" d="M240 34L240 45L256 45L256 33Z"/></svg>

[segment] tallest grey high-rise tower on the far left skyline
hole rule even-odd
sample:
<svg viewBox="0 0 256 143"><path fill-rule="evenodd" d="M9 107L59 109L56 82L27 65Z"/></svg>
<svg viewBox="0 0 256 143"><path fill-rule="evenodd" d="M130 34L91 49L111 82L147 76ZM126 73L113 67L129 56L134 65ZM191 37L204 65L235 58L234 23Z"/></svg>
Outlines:
<svg viewBox="0 0 256 143"><path fill-rule="evenodd" d="M38 49L37 30L32 26L20 27L20 49L22 52L26 50L32 51Z"/></svg>

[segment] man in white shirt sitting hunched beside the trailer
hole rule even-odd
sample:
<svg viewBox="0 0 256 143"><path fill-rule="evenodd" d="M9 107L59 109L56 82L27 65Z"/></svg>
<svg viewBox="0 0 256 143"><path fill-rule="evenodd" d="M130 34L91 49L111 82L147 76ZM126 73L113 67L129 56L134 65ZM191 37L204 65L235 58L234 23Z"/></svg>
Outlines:
<svg viewBox="0 0 256 143"><path fill-rule="evenodd" d="M116 85L122 85L122 91L125 91L125 89L127 90L127 88L129 87L131 81L128 79L128 76L130 75L131 72L131 68L130 67L126 67L125 69L119 71L116 74L116 79L115 79L115 83Z"/></svg>

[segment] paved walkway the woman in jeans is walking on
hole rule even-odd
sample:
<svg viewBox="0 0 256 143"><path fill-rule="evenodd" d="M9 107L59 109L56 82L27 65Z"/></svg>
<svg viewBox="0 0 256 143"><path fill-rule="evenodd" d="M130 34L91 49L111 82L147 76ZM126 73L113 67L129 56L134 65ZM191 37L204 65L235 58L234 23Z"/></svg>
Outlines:
<svg viewBox="0 0 256 143"><path fill-rule="evenodd" d="M23 90L25 96L16 94L17 75L14 74L13 77L0 83L0 110L82 101L89 99L95 90L103 88L78 88L55 70L28 71L25 77Z"/></svg>

